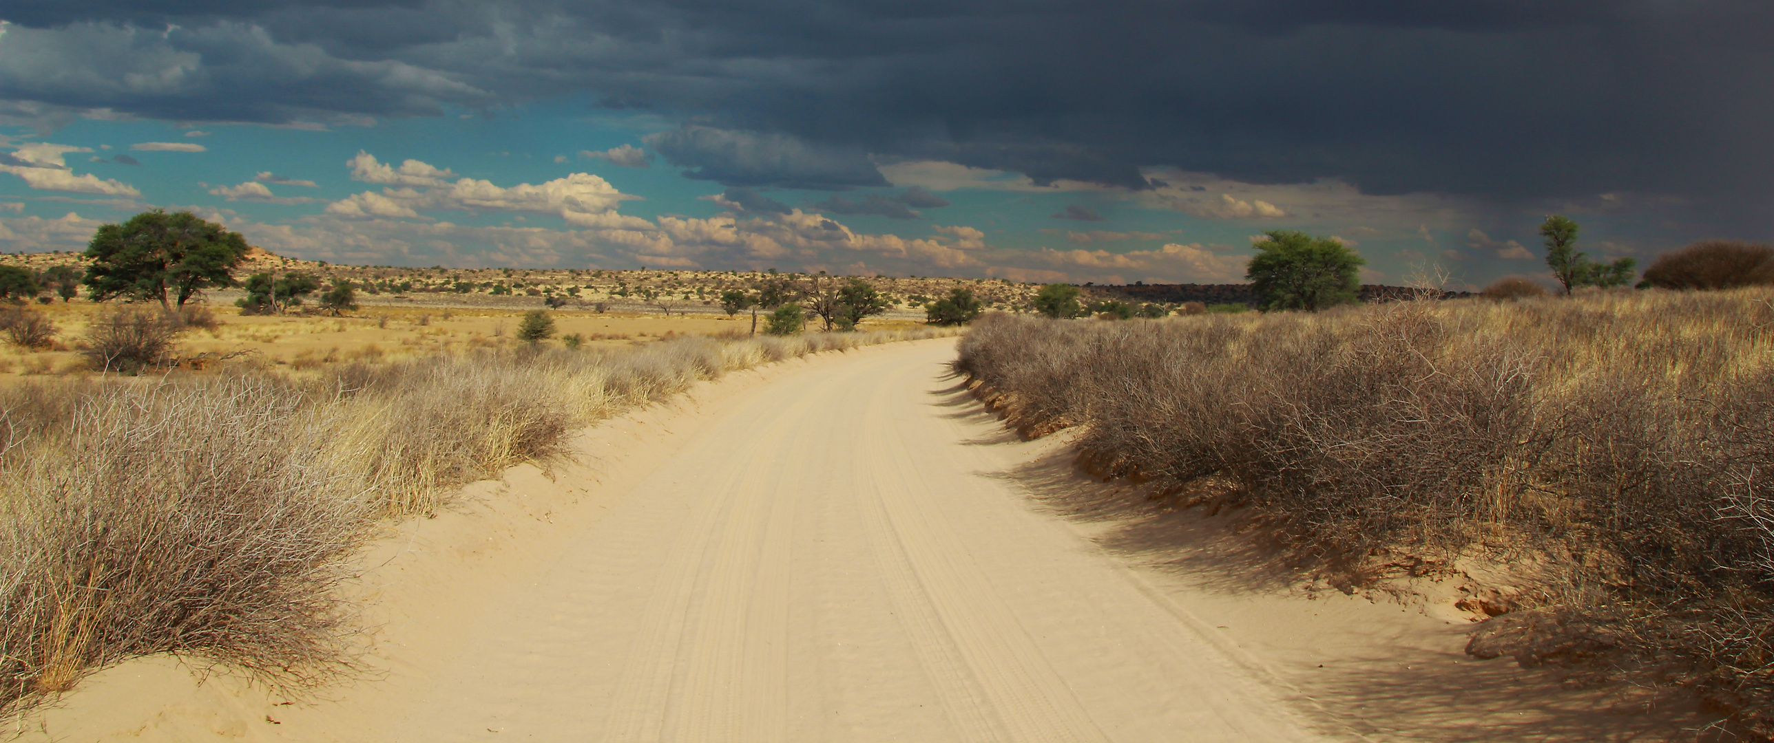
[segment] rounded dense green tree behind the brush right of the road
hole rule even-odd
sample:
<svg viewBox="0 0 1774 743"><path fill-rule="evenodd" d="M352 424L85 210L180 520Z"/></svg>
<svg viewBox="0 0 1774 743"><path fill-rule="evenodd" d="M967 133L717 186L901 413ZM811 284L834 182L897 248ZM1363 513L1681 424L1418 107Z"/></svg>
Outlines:
<svg viewBox="0 0 1774 743"><path fill-rule="evenodd" d="M1256 245L1244 277L1263 301L1263 310L1307 310L1355 301L1361 266L1368 261L1336 238L1313 238L1299 231L1270 231Z"/></svg>

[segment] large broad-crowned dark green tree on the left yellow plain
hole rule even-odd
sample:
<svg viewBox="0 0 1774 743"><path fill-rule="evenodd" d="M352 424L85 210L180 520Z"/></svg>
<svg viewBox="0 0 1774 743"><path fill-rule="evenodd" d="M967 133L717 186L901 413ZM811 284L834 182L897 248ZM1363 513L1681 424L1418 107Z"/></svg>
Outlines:
<svg viewBox="0 0 1774 743"><path fill-rule="evenodd" d="M158 300L172 312L208 287L234 285L229 273L247 257L247 239L190 211L144 211L121 225L103 225L87 245L87 294L94 301L126 296Z"/></svg>

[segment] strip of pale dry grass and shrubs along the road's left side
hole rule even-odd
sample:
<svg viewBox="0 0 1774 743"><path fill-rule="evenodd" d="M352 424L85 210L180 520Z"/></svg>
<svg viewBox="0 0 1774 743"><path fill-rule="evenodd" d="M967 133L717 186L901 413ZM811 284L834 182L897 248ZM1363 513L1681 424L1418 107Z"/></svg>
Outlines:
<svg viewBox="0 0 1774 743"><path fill-rule="evenodd" d="M121 314L154 332L165 314ZM0 715L177 653L302 688L349 670L335 590L378 520L564 450L594 420L816 351L917 337L520 346L319 376L62 379L0 390Z"/></svg>

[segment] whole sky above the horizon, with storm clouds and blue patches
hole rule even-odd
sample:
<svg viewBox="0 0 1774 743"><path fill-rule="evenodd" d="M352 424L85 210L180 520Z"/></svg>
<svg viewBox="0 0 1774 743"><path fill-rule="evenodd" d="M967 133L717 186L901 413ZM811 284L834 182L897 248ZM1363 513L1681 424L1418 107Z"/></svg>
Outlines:
<svg viewBox="0 0 1774 743"><path fill-rule="evenodd" d="M151 5L151 7L149 7ZM190 209L280 255L1545 280L1774 239L1774 5L11 0L0 250Z"/></svg>

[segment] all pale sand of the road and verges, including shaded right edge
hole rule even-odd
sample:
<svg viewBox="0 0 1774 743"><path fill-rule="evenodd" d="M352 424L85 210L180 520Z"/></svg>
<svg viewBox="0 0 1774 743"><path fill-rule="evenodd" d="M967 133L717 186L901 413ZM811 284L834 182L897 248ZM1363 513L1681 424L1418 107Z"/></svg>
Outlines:
<svg viewBox="0 0 1774 743"><path fill-rule="evenodd" d="M953 344L733 374L390 527L353 679L286 697L145 658L21 739L1621 738L1593 697L1462 656L1446 606L1263 585L1091 518L1112 493L981 411Z"/></svg>

